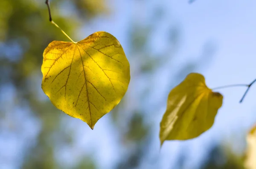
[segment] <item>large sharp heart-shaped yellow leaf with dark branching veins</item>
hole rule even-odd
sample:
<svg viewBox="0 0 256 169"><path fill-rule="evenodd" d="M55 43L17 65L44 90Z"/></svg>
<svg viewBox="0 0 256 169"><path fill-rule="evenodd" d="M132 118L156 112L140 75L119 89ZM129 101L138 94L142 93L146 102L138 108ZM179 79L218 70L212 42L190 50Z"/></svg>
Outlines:
<svg viewBox="0 0 256 169"><path fill-rule="evenodd" d="M127 91L129 62L119 41L107 32L77 43L53 41L43 56L44 93L55 107L91 129Z"/></svg>

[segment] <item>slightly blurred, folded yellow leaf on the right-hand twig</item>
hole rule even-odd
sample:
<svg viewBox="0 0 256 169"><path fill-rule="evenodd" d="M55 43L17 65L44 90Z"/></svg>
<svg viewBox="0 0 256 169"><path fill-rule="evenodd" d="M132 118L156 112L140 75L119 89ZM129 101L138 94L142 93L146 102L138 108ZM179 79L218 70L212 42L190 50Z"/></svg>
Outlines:
<svg viewBox="0 0 256 169"><path fill-rule="evenodd" d="M198 137L214 123L223 96L212 92L198 73L190 73L169 93L167 109L160 123L161 145L165 140Z"/></svg>

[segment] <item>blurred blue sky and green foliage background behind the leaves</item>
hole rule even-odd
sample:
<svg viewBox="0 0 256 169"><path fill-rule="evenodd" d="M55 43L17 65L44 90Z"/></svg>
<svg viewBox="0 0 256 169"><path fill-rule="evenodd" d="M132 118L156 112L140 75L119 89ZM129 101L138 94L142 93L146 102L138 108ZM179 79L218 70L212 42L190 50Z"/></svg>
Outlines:
<svg viewBox="0 0 256 169"><path fill-rule="evenodd" d="M0 169L242 169L256 123L256 86L221 89L222 108L200 137L166 141L170 90L190 72L210 88L256 78L256 1L51 0L52 18L79 41L113 34L131 65L122 101L91 130L41 89L44 49L68 41L44 0L0 0Z"/></svg>

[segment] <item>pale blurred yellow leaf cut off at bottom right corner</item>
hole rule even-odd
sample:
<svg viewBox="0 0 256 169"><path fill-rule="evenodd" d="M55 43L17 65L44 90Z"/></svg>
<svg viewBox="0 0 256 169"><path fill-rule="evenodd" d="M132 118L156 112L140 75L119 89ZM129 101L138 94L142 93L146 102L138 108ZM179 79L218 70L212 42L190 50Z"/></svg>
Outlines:
<svg viewBox="0 0 256 169"><path fill-rule="evenodd" d="M247 152L244 167L246 169L256 169L256 126L247 135Z"/></svg>

